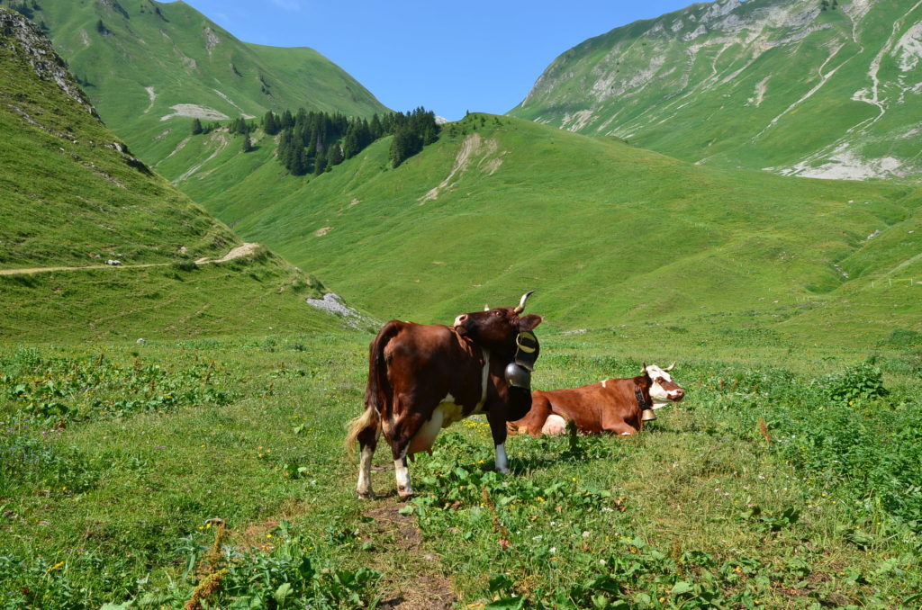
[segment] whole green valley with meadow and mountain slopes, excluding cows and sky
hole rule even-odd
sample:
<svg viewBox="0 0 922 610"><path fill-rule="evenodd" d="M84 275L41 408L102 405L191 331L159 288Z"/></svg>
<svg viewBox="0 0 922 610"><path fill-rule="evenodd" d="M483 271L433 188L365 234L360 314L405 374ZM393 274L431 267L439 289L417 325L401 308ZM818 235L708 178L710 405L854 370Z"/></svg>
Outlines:
<svg viewBox="0 0 922 610"><path fill-rule="evenodd" d="M389 113L320 53L183 2L0 1L0 610L922 603L896 5L689 6L397 167L392 132L296 175L267 112ZM510 475L468 417L408 500L381 440L357 499L381 324L526 290L535 389L676 361L685 399L512 436Z"/></svg>

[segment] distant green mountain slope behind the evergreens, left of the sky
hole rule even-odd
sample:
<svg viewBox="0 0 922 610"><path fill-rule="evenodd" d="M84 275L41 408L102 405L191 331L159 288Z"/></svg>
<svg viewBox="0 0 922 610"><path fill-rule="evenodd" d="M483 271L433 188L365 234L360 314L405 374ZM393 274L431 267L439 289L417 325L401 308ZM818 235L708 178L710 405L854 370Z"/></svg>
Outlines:
<svg viewBox="0 0 922 610"><path fill-rule="evenodd" d="M33 20L49 29L100 116L151 164L183 142L193 117L386 110L320 53L238 41L183 2L27 3L33 5Z"/></svg>

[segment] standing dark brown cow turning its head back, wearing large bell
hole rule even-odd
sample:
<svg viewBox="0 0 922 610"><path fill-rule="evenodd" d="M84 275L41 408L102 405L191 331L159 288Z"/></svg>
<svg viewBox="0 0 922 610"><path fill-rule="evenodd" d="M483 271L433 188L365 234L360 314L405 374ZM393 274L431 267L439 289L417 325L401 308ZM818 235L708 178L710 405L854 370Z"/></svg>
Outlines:
<svg viewBox="0 0 922 610"><path fill-rule="evenodd" d="M368 361L365 411L352 422L347 447L359 441L360 498L372 497L372 455L378 437L391 446L397 493L413 493L407 458L427 452L442 428L485 413L496 447L496 470L509 473L506 423L531 406L527 378L515 374L520 335L530 336L541 323L534 314L520 316L531 292L517 307L463 313L453 326L392 320L372 341ZM532 361L538 357L537 342ZM512 370L513 373L507 371ZM512 382L510 382L512 381Z"/></svg>

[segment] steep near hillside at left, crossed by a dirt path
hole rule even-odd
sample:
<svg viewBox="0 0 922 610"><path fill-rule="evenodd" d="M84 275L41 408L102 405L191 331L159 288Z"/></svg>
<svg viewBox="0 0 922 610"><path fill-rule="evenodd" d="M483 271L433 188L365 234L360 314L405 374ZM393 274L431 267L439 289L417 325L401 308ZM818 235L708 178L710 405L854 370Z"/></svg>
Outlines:
<svg viewBox="0 0 922 610"><path fill-rule="evenodd" d="M264 248L217 262L241 241L132 157L41 31L3 7L0 83L0 337L336 327L303 301L319 285ZM70 269L22 271L49 267Z"/></svg>

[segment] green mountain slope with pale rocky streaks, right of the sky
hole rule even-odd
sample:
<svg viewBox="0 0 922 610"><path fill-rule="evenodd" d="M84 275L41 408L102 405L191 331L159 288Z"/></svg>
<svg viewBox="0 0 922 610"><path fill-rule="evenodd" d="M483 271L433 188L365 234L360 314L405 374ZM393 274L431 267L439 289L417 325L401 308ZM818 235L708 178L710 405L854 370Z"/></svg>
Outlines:
<svg viewBox="0 0 922 610"><path fill-rule="evenodd" d="M561 54L510 114L694 163L922 173L922 2L718 0Z"/></svg>

